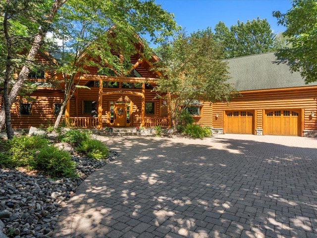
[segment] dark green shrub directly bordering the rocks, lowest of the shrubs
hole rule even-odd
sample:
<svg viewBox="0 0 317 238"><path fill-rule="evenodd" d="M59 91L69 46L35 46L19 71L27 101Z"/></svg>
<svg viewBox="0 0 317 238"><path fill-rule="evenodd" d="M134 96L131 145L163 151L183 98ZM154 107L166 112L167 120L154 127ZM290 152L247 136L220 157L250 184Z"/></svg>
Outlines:
<svg viewBox="0 0 317 238"><path fill-rule="evenodd" d="M31 163L33 169L43 171L53 177L75 178L75 162L69 153L54 146L42 148Z"/></svg>

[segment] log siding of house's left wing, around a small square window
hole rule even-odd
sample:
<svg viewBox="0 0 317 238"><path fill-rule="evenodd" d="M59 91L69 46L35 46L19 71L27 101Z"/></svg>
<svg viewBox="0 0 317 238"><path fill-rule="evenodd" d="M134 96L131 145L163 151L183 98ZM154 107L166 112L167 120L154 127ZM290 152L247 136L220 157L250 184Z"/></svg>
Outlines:
<svg viewBox="0 0 317 238"><path fill-rule="evenodd" d="M48 96L49 95L49 96ZM54 116L54 104L61 104L63 93L57 90L37 90L30 95L33 100L17 98L17 101L11 107L11 124L13 129L27 129L30 126L44 127L53 125L56 120ZM32 115L19 115L19 104L31 103Z"/></svg>

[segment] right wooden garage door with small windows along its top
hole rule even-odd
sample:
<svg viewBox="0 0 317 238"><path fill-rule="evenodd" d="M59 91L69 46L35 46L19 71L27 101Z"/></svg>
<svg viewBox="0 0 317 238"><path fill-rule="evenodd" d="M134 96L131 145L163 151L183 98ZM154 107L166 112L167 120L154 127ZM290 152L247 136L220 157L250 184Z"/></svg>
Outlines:
<svg viewBox="0 0 317 238"><path fill-rule="evenodd" d="M264 134L299 135L299 113L292 110L265 112Z"/></svg>

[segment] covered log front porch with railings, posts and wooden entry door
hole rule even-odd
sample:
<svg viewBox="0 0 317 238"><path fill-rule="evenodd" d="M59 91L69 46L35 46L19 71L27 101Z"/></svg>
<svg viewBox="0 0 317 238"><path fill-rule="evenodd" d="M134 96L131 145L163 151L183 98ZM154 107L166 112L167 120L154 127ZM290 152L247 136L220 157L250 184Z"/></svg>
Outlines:
<svg viewBox="0 0 317 238"><path fill-rule="evenodd" d="M167 100L156 98L156 93L152 92L153 87L146 87L155 85L156 78L87 74L81 76L81 80L94 81L98 88L91 88L90 92L87 89L79 91L74 95L74 99L69 101L65 109L65 121L69 126L99 130L105 127L171 126ZM107 87L114 82L117 83L116 88ZM127 84L131 85L131 88L123 87ZM134 86L136 84L138 87ZM85 101L86 99L94 101L95 108L92 110L96 110L96 115L84 115L85 110L86 114L89 111L85 109L85 103L89 102Z"/></svg>

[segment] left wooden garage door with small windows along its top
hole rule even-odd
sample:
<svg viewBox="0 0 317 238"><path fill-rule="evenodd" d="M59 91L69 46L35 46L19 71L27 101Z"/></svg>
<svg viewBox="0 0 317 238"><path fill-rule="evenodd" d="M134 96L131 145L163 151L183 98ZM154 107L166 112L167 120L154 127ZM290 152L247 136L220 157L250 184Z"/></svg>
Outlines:
<svg viewBox="0 0 317 238"><path fill-rule="evenodd" d="M247 111L227 112L226 133L253 134L253 113Z"/></svg>

